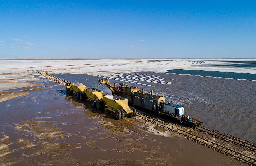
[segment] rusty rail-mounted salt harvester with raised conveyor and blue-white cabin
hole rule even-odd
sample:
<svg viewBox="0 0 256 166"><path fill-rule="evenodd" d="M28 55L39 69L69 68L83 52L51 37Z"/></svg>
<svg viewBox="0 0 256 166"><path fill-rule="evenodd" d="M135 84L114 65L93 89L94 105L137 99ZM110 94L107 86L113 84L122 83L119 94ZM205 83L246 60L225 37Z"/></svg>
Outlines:
<svg viewBox="0 0 256 166"><path fill-rule="evenodd" d="M122 82L114 83L112 86L107 78L99 79L98 81L100 85L105 84L111 90L112 94L126 98L132 105L167 115L189 126L198 126L202 123L202 121L185 116L184 106L173 104L172 100L168 103L165 102L165 98L161 95L155 95L153 89L151 93L146 93L144 88L140 90L137 87L129 86L129 84Z"/></svg>

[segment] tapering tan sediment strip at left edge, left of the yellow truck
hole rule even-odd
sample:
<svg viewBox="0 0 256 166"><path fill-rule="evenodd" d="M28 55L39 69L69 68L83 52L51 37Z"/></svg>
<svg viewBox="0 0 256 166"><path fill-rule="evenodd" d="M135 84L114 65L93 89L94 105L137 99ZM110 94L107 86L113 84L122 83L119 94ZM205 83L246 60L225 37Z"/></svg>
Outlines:
<svg viewBox="0 0 256 166"><path fill-rule="evenodd" d="M0 102L6 101L6 100L10 100L19 96L26 96L29 94L29 92L32 91L37 91L37 90L41 90L41 89L45 89L45 88L49 88L51 86L44 86L44 87L40 87L40 88L33 88L31 90L22 90L22 91L8 91L8 92L0 92Z"/></svg>

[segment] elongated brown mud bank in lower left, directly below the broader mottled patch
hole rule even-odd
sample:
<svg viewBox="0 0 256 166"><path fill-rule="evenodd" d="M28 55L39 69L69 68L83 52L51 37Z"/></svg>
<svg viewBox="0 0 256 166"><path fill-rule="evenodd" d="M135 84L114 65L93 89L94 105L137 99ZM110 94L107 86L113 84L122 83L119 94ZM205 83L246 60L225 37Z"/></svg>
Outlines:
<svg viewBox="0 0 256 166"><path fill-rule="evenodd" d="M47 154L47 155L67 155L71 152L74 148L81 147L80 144L68 144L68 143L57 143L55 141L51 142L40 142L41 148L32 150L28 152L25 150L25 155L40 155L40 154Z"/></svg>

